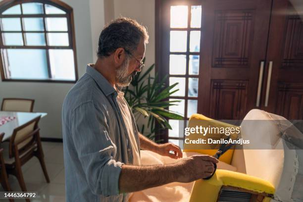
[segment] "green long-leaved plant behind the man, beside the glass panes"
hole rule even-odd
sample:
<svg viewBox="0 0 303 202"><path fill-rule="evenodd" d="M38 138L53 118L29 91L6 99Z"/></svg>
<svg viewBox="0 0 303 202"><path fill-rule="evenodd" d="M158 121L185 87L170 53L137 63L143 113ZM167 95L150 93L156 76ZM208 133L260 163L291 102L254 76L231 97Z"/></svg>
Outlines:
<svg viewBox="0 0 303 202"><path fill-rule="evenodd" d="M145 62L145 58L143 63ZM123 91L124 97L132 109L135 116L136 122L142 116L148 118L146 132L145 124L141 128L138 127L139 131L146 137L154 140L156 130L163 128L172 129L168 123L167 118L183 120L183 116L180 114L168 110L171 105L177 105L179 101L169 101L167 98L179 89L171 91L178 83L171 86L165 85L164 77L162 80L158 80L157 74L155 77L150 75L150 72L154 68L154 64L150 66L146 72L138 72L133 77L130 86L126 87ZM155 123L159 123L160 128L155 128ZM138 125L137 125L138 126Z"/></svg>

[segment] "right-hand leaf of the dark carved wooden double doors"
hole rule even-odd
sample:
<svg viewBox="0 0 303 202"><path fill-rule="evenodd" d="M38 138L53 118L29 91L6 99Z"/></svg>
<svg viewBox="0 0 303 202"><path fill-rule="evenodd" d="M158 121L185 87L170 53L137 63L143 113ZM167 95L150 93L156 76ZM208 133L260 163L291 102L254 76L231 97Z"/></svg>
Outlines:
<svg viewBox="0 0 303 202"><path fill-rule="evenodd" d="M262 109L303 119L303 16L288 0L274 0Z"/></svg>

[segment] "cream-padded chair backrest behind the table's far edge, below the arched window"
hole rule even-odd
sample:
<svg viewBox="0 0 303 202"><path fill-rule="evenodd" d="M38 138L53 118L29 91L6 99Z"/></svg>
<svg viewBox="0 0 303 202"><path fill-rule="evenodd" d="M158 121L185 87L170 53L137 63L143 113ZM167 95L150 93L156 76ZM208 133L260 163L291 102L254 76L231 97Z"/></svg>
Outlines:
<svg viewBox="0 0 303 202"><path fill-rule="evenodd" d="M32 112L35 100L20 98L4 98L1 105L2 111Z"/></svg>

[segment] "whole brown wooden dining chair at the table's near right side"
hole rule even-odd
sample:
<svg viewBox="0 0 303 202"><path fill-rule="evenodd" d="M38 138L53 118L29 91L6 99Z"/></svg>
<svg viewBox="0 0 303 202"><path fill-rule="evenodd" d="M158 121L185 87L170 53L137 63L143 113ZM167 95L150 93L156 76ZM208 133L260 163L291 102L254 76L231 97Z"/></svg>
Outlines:
<svg viewBox="0 0 303 202"><path fill-rule="evenodd" d="M50 183L39 135L39 120L40 116L14 129L9 143L6 144L6 148L4 148L4 161L7 173L17 177L23 192L26 192L27 189L21 166L33 156L38 157L46 181ZM29 202L29 200L27 201Z"/></svg>

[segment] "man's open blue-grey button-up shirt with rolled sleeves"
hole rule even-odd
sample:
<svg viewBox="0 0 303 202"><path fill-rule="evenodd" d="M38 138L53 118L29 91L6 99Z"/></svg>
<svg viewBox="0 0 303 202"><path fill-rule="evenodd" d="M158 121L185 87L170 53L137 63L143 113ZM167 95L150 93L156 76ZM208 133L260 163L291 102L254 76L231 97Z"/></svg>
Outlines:
<svg viewBox="0 0 303 202"><path fill-rule="evenodd" d="M128 194L119 194L118 181L122 164L133 163L133 152L116 97L117 92L109 82L88 65L86 73L64 99L62 129L67 202L128 199ZM131 116L140 148L132 112Z"/></svg>

